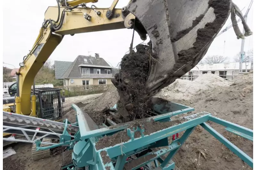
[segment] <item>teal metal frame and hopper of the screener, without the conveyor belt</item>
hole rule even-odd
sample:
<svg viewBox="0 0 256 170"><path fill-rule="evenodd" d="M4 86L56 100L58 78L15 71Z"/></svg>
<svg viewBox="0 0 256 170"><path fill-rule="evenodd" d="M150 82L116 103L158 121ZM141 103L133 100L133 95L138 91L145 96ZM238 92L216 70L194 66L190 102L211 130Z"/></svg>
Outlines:
<svg viewBox="0 0 256 170"><path fill-rule="evenodd" d="M157 113L157 115L145 119L145 121L154 119L155 121L159 122L167 122L171 120L172 116L194 110L192 107L170 102L168 107L172 107L172 112L168 112L167 110L163 109L165 106L155 105L154 110L156 111L155 113ZM60 145L68 145L69 149L73 149L72 160L74 167L71 169L75 170L77 168L89 167L90 170L123 170L124 167L129 165L131 168L132 162L132 170L145 166L147 169L150 169L150 162L154 162L154 169L172 170L174 169L175 163L171 159L178 152L182 144L185 143L197 125L201 125L211 135L213 135L222 144L228 147L239 158L244 160L244 162L253 168L252 158L237 148L225 137L220 135L206 122L216 122L225 126L226 130L229 132L245 137L249 140L253 140L253 131L251 129L244 128L234 123L214 117L210 113L201 112L194 115L189 115L183 118L183 120L185 119L185 122L159 130L151 133L150 135L144 135L143 127L129 129L128 127L131 122L117 124L110 127L105 125L106 128L101 129L97 129L96 126L88 126L87 121L91 121L88 120L88 115L76 105L73 104L72 107L76 110L79 131L76 132L74 138L71 138L68 137L70 135L66 130L64 130L62 136L60 137L60 143L55 145L55 147ZM111 109L116 110L115 107ZM68 125L68 121L66 120L65 127ZM130 137L129 141L121 142L120 140L120 143L116 144L115 146L105 147L100 150L96 149L95 145L100 138L113 135L114 133L124 129L126 129L124 133L127 133L127 136ZM141 137L134 137L134 133L136 131L140 131ZM171 144L168 144L168 137L171 137L172 135L175 135L181 131L185 131L184 134L181 137L176 137ZM37 144L37 146L38 150L49 149L49 147L40 147L40 142ZM161 146L164 146L165 148L156 151L153 149ZM161 156L167 153L168 156L165 159L162 159ZM104 158L102 158L102 155L104 155ZM136 160L127 160L127 158L131 158L132 155L137 155ZM144 159L145 157L148 157L146 161Z"/></svg>

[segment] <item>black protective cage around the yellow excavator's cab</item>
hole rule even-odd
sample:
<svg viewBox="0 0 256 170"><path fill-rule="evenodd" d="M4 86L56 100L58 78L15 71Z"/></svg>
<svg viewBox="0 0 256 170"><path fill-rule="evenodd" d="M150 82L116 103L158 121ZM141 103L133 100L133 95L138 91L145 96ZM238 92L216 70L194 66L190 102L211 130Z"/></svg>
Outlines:
<svg viewBox="0 0 256 170"><path fill-rule="evenodd" d="M42 119L58 120L63 116L61 89L42 87L35 89L36 114ZM40 107L39 107L40 106Z"/></svg>

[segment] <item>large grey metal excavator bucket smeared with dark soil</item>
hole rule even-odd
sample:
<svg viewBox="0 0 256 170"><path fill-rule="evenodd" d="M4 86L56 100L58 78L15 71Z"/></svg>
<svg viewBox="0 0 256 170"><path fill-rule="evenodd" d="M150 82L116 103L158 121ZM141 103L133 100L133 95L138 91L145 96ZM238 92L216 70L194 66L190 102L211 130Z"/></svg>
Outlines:
<svg viewBox="0 0 256 170"><path fill-rule="evenodd" d="M153 63L146 91L156 93L204 57L225 24L231 0L132 0L128 10L152 41Z"/></svg>

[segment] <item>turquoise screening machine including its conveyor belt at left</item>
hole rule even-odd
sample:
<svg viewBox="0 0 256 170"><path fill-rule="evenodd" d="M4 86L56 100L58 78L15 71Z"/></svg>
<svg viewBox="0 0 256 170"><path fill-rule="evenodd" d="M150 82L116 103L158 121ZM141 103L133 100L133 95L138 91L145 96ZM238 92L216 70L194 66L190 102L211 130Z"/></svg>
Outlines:
<svg viewBox="0 0 256 170"><path fill-rule="evenodd" d="M173 102L156 103L158 104L154 104L150 111L153 116L149 118L120 124L107 118L101 128L74 104L72 107L76 110L77 120L74 124L70 124L68 120L61 123L4 112L3 131L23 134L27 142L36 143L37 150L58 146L66 146L68 150L73 150L72 164L63 166L69 170L172 170L175 166L173 156L199 125L253 168L252 158L206 122L212 121L223 125L227 131L248 140L253 140L251 129L206 112L182 117L182 114L194 111L194 108ZM110 110L113 116L118 112L116 105ZM174 119L175 117L179 118ZM24 122L27 122L27 127L24 126ZM172 139L171 142L168 141L168 137ZM45 143L42 141L43 138L59 139L59 143Z"/></svg>

